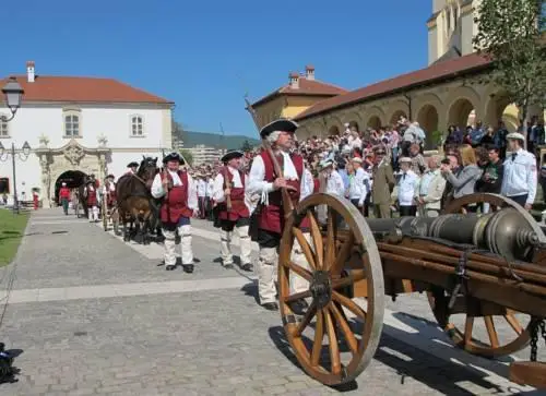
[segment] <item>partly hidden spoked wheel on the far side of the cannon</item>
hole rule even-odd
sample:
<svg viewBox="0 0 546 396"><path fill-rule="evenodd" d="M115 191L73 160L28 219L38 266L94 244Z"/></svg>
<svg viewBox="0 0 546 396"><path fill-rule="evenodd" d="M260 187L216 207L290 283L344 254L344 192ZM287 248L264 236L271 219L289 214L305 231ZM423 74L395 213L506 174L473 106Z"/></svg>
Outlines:
<svg viewBox="0 0 546 396"><path fill-rule="evenodd" d="M498 194L489 193L476 193L466 195L452 201L443 211L442 214L456 214L461 213L463 208L473 203L489 203L490 205L501 207L512 207L523 216L529 226L537 235L541 242L546 242L546 237L544 236L541 227L535 221L535 219L518 203L514 201ZM438 288L434 291L428 292L428 301L432 309L434 315L438 321L438 324L443 328L446 334L451 338L451 340L460 348L483 357L496 358L506 355L517 352L525 348L530 343L529 333L529 322L531 317L529 315L523 315L517 313L510 309L502 309L498 314L484 315L484 326L485 332L479 332L480 334L487 334L488 340L478 339L475 329L475 316L468 313L464 314L464 332L459 329L459 327L450 322L450 314L448 312L448 303L450 301L449 291ZM475 304L488 304L482 300L474 300ZM490 304L489 304L490 305ZM498 311L498 310L497 310ZM517 314L519 317L517 317ZM522 316L527 316L529 319L523 321L527 322L526 325L522 324L520 319ZM512 331L514 338L510 340L500 339L495 323L508 324Z"/></svg>

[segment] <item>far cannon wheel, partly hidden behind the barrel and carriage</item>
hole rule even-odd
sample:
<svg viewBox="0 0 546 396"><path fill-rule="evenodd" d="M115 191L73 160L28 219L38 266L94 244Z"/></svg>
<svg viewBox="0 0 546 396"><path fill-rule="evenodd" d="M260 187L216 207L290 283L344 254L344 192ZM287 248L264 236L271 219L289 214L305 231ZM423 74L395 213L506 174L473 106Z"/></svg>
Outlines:
<svg viewBox="0 0 546 396"><path fill-rule="evenodd" d="M443 214L461 213L467 204L482 202L499 208L511 207L518 211L518 214L527 220L530 230L535 231L541 242L546 242L546 237L535 219L518 203L502 195L489 193L465 195L451 202L444 208ZM464 302L467 305L465 312L450 314L448 310L450 299L450 293L442 288L435 288L428 292L428 302L438 324L458 347L474 355L497 358L517 352L529 345L530 315L503 307L492 307L491 310L492 304L477 299ZM474 312L468 312L471 310ZM494 314L484 315L482 311L494 312ZM464 332L458 325L464 327ZM500 326L510 329L501 332L502 336L500 336ZM506 333L508 336L505 335Z"/></svg>

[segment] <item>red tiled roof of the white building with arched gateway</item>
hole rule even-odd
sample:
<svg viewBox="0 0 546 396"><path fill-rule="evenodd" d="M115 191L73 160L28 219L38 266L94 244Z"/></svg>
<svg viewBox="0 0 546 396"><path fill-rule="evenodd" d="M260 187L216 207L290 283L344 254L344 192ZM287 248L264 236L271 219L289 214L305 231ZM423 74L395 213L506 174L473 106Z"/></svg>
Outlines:
<svg viewBox="0 0 546 396"><path fill-rule="evenodd" d="M159 96L149 94L114 79L67 77L36 75L28 83L26 75L17 75L17 82L25 91L25 101L68 101L68 103L150 103L173 104ZM0 80L0 87L8 79ZM0 98L0 101L3 97Z"/></svg>

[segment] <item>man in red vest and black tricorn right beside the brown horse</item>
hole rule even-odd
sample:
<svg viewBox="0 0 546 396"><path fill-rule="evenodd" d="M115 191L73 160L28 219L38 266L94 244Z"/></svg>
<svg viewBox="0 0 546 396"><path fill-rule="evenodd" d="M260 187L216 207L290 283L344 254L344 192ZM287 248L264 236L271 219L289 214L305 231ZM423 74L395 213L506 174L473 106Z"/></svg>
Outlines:
<svg viewBox="0 0 546 396"><path fill-rule="evenodd" d="M179 169L183 159L178 153L163 158L165 170L157 173L152 183L152 195L163 199L159 208L163 235L165 236L165 269L176 268L176 231L180 236L182 268L193 272L193 251L191 249L191 217L197 216L198 192L191 176Z"/></svg>

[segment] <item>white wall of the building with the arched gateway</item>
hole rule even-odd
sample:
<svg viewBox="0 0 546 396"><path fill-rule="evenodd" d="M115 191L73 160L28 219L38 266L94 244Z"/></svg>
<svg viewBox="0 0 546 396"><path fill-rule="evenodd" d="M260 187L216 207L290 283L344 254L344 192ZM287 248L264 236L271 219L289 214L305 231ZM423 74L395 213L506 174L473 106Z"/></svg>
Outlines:
<svg viewBox="0 0 546 396"><path fill-rule="evenodd" d="M146 108L147 107L147 108ZM95 149L98 147L98 137L104 135L107 139L106 147L111 151L111 161L107 164L109 173L116 177L121 176L127 170L127 164L133 160L140 163L142 155L158 157L162 161L162 148L166 151L170 147L170 108L167 105L139 105L114 106L114 105L26 105L19 109L15 118L9 122L9 137L0 137L0 143L4 147L4 153L11 149L12 142L15 148L21 148L24 142L28 142L31 147L38 148L41 135L48 137L49 148L60 148L70 142L70 137L64 136L63 109L80 109L80 134L82 137L75 139L85 148ZM0 108L0 115L9 115ZM131 136L131 116L139 115L143 119L143 133L141 136ZM7 159L0 163L0 178L9 178L10 194L13 193L12 160L11 155L5 154L1 158ZM33 153L26 161L15 157L16 187L19 197L22 193L26 200L32 199L33 188L43 188L41 168L38 157ZM66 170L73 170L78 167L69 167ZM96 176L98 169L96 169ZM55 185L56 180L51 180ZM11 202L10 196L10 202Z"/></svg>

